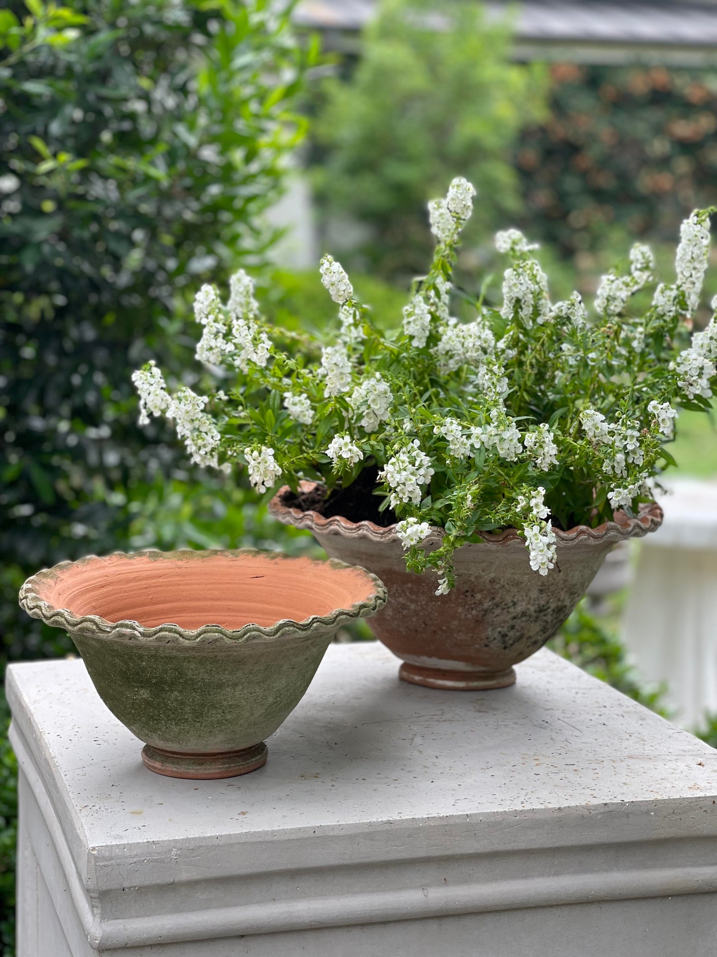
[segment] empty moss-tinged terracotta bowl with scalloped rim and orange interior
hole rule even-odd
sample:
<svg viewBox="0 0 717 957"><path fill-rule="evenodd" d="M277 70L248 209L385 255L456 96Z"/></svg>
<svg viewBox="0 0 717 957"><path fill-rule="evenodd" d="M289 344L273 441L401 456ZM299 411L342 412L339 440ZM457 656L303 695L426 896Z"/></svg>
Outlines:
<svg viewBox="0 0 717 957"><path fill-rule="evenodd" d="M250 549L92 555L20 590L71 634L146 767L182 778L260 768L337 628L385 600L363 568Z"/></svg>

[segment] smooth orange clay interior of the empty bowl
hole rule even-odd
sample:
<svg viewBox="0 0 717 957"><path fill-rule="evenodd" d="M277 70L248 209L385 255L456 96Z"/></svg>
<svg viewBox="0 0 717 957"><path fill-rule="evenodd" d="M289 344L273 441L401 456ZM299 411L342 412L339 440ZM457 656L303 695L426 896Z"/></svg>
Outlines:
<svg viewBox="0 0 717 957"><path fill-rule="evenodd" d="M281 619L303 621L348 609L375 590L361 568L241 552L92 558L63 568L37 588L55 609L187 631L203 625L271 628Z"/></svg>

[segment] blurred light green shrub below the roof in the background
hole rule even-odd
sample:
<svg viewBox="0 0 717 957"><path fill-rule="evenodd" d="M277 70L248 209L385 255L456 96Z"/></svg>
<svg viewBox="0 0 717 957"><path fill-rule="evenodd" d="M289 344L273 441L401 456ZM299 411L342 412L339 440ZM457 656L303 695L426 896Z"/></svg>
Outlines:
<svg viewBox="0 0 717 957"><path fill-rule="evenodd" d="M390 278L423 272L425 201L458 174L479 191L468 243L519 209L511 149L542 118L546 84L540 66L511 64L509 49L509 26L478 4L381 2L353 74L326 83L315 127L321 210L368 227L358 262L331 250L344 265Z"/></svg>

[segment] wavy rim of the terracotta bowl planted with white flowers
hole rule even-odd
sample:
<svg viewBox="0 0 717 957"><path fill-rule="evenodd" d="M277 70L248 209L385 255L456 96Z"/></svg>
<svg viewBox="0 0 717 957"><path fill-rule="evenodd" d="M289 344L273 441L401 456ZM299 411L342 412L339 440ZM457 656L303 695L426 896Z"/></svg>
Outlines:
<svg viewBox="0 0 717 957"><path fill-rule="evenodd" d="M302 491L310 492L321 482L302 481L299 483ZM350 522L340 515L324 518L314 510L301 511L295 506L285 505L282 497L289 492L290 486L283 485L269 503L269 511L279 522L291 524L296 528L306 528L318 535L340 534L355 539L368 539L371 542L399 542L396 534L396 525L377 525L374 522ZM597 528L589 525L575 525L568 531L554 528L554 535L560 545L576 545L581 542L620 542L629 538L641 538L649 532L656 531L663 523L663 509L656 501L640 505L639 515L631 519L624 512L614 513L613 522L603 522ZM480 545L492 547L506 547L513 542L525 545L525 540L516 528L504 528L501 532L479 532L482 539ZM431 526L429 536L424 539L427 545L440 544L445 535L443 528Z"/></svg>

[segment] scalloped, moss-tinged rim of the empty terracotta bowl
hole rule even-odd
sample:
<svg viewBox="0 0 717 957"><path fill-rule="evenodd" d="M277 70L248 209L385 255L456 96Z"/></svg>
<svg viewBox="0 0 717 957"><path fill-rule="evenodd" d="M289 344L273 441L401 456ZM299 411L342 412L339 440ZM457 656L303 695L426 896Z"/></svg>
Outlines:
<svg viewBox="0 0 717 957"><path fill-rule="evenodd" d="M368 583L373 586L373 591L367 598L354 602L349 608L334 609L329 614L310 615L301 621L295 621L292 618L281 618L271 627L247 624L239 629L223 628L221 625L207 623L201 628L190 630L182 628L180 625L166 622L162 625L156 625L153 628L147 628L141 625L139 621L124 619L122 621L108 621L97 614L77 615L68 609L54 608L50 602L41 598L38 593L38 587L48 579L54 580L61 575L66 568L84 565L88 562L102 562L108 558L120 555L122 558L132 560L135 558L149 557L154 561L164 559L180 559L183 561L202 560L206 556L227 555L231 558L237 558L241 555L261 555L262 557L271 557L277 561L293 562L297 559L292 555L286 555L283 552L264 551L259 548L236 548L230 549L204 549L195 550L193 548L180 548L175 551L159 551L158 549L148 548L142 551L122 552L115 551L109 555L85 555L75 562L59 562L52 568L43 568L30 577L22 586L19 592L20 607L33 618L40 618L46 625L54 628L61 628L70 634L83 634L92 637L109 638L120 641L137 641L145 643L158 642L162 645L197 645L205 642L222 639L225 643L245 644L248 641L276 641L286 636L306 636L319 634L322 632L335 631L342 624L357 618L368 618L379 612L386 603L387 591L380 578L365 568L355 565L348 565L346 562L339 562L338 559L329 559L321 561L319 559L305 559L312 564L320 565L321 568L334 568L337 572L351 570L359 571Z"/></svg>

